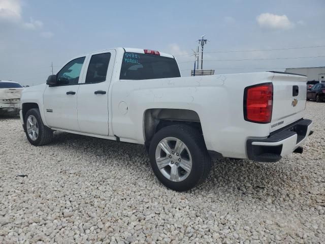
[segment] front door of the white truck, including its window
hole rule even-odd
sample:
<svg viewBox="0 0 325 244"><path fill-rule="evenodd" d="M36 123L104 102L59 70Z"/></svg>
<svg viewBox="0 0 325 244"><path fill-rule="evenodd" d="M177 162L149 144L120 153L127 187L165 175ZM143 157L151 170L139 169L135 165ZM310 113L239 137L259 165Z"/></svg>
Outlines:
<svg viewBox="0 0 325 244"><path fill-rule="evenodd" d="M73 59L57 73L58 85L46 87L44 112L49 127L80 131L77 118L77 95L85 58Z"/></svg>

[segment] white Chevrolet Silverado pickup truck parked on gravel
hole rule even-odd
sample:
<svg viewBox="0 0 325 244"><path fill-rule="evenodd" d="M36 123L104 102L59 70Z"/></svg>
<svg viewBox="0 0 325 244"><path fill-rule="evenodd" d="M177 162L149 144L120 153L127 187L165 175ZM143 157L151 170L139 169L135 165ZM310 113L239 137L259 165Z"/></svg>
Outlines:
<svg viewBox="0 0 325 244"><path fill-rule="evenodd" d="M21 96L28 141L53 131L144 144L157 178L186 191L202 182L211 158L276 162L302 153L306 77L261 72L180 77L174 56L114 48L72 59L46 84Z"/></svg>

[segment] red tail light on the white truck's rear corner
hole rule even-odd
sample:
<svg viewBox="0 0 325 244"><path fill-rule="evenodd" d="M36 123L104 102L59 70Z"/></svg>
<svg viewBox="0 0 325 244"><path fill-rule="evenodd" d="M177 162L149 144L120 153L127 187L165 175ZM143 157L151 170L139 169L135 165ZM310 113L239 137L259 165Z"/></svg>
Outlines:
<svg viewBox="0 0 325 244"><path fill-rule="evenodd" d="M273 108L273 85L263 83L248 86L244 90L244 119L254 123L271 122Z"/></svg>

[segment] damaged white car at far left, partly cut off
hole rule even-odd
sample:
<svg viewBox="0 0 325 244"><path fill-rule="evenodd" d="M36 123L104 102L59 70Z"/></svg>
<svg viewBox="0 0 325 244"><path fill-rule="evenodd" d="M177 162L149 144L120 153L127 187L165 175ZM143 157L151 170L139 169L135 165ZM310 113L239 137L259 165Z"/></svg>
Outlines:
<svg viewBox="0 0 325 244"><path fill-rule="evenodd" d="M24 88L17 82L0 80L0 115L18 115Z"/></svg>

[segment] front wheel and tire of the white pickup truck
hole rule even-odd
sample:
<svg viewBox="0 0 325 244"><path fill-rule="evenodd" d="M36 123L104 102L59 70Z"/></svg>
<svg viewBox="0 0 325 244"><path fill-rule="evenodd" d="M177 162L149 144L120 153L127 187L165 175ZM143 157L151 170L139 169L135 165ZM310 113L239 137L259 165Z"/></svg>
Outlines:
<svg viewBox="0 0 325 244"><path fill-rule="evenodd" d="M27 121L28 118L31 119L30 121L32 121L33 126L31 126L31 123ZM32 133L33 130L34 133ZM42 146L52 141L53 131L43 124L40 110L37 108L32 108L27 111L24 117L24 131L27 136L27 140L32 145ZM35 137L32 136L33 134Z"/></svg>

